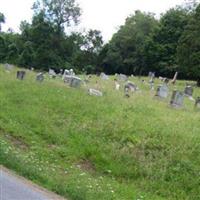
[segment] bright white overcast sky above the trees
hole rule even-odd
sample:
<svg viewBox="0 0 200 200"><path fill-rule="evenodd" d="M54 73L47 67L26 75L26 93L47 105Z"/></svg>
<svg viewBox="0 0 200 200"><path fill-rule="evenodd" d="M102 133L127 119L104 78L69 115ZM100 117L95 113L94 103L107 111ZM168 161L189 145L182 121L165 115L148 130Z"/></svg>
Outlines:
<svg viewBox="0 0 200 200"><path fill-rule="evenodd" d="M34 0L0 0L0 12L6 17L3 30L11 27L19 32L22 20L31 22ZM113 33L123 25L126 17L135 10L153 12L157 17L166 10L184 3L184 0L77 0L81 9L81 23L78 31L97 29L102 32L103 39L108 41Z"/></svg>

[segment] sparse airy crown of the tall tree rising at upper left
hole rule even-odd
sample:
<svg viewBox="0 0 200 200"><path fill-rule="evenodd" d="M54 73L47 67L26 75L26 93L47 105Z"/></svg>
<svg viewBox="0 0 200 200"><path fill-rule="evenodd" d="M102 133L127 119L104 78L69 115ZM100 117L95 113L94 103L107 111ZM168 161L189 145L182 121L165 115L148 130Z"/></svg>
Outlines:
<svg viewBox="0 0 200 200"><path fill-rule="evenodd" d="M36 14L44 12L46 19L54 23L58 33L62 32L64 25L77 24L81 12L75 0L37 0L33 9Z"/></svg>

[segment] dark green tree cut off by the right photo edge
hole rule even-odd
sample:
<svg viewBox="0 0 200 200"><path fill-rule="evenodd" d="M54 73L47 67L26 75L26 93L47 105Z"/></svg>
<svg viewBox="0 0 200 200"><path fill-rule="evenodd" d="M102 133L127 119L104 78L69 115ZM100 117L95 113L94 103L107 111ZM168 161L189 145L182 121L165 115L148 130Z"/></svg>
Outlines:
<svg viewBox="0 0 200 200"><path fill-rule="evenodd" d="M178 63L185 78L200 86L200 5L192 14L178 45Z"/></svg>

